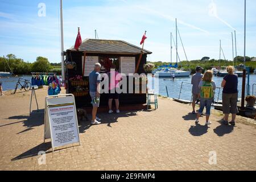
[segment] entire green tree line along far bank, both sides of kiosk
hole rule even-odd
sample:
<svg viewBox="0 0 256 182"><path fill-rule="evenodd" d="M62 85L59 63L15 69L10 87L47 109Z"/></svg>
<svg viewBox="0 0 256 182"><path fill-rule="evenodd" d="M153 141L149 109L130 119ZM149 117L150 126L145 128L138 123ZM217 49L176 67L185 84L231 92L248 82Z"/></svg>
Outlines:
<svg viewBox="0 0 256 182"><path fill-rule="evenodd" d="M255 60L255 57L246 56L246 67L250 67L251 72L253 72L256 68L256 61L253 60ZM170 64L170 62L166 61L155 61L148 63L154 64L155 68ZM243 64L243 56L235 57L234 65L238 66L240 64ZM212 67L227 67L228 65L233 65L233 61L210 59L210 57L205 56L200 60L180 61L178 63L178 68L191 69L193 73L198 65L204 69L211 69ZM13 54L9 54L7 56L0 57L0 71L12 71L15 75L30 75L31 72L54 72L61 74L61 63L49 63L48 59L42 56L36 57L36 61L34 63L28 63L23 59L17 58Z"/></svg>

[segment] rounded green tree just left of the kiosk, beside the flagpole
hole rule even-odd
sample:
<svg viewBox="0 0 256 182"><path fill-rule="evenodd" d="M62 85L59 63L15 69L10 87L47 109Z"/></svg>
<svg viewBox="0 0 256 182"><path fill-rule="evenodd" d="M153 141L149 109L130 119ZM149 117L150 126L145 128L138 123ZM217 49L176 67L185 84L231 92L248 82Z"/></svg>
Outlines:
<svg viewBox="0 0 256 182"><path fill-rule="evenodd" d="M36 57L35 63L32 64L32 72L49 72L51 64L46 57Z"/></svg>

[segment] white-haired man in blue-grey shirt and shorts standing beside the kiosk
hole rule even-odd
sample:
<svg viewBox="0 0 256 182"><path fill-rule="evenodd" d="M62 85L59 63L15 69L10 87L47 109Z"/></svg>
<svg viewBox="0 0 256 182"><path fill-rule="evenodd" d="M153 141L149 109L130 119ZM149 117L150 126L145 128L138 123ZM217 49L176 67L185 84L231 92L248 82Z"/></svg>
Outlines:
<svg viewBox="0 0 256 182"><path fill-rule="evenodd" d="M100 82L101 82L101 75L100 75L101 64L96 63L94 65L94 70L90 72L89 75L89 91L90 97L92 97L92 125L100 124L100 118L97 118L97 110L100 106Z"/></svg>

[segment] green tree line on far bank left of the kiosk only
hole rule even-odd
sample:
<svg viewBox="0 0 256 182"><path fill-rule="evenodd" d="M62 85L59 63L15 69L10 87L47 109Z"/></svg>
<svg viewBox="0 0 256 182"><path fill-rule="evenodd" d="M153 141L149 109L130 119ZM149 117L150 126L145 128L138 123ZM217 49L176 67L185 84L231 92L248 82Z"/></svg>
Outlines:
<svg viewBox="0 0 256 182"><path fill-rule="evenodd" d="M28 63L13 54L0 57L0 71L13 72L15 75L30 75L31 72L61 73L61 63L49 63L46 57L38 56L34 63Z"/></svg>

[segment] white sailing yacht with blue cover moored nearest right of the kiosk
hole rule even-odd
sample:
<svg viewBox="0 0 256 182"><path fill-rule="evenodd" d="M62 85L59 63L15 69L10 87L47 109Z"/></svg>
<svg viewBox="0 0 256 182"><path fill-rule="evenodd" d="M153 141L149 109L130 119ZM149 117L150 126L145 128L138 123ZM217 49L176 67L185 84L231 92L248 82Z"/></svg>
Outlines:
<svg viewBox="0 0 256 182"><path fill-rule="evenodd" d="M155 77L189 77L191 75L191 71L185 71L182 69L177 69L177 59L178 59L178 53L177 53L177 19L176 19L176 64L175 65L163 65L162 67L156 68L154 71L152 71L152 74L155 75ZM180 34L179 34L180 36ZM181 37L180 37L181 40ZM181 44L183 46L182 40ZM184 49L184 47L183 47ZM184 49L185 52L185 49ZM185 54L186 58L187 55ZM188 59L187 59L188 61ZM171 63L172 63L172 33L171 33Z"/></svg>

